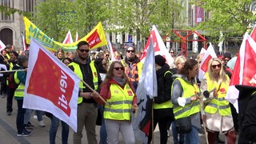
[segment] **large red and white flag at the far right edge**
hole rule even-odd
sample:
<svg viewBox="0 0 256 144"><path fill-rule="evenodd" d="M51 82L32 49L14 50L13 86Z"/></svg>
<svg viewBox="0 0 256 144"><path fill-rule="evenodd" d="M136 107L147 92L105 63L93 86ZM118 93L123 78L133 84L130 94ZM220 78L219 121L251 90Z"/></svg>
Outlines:
<svg viewBox="0 0 256 144"><path fill-rule="evenodd" d="M255 36L255 29L251 36ZM256 86L256 42L247 33L244 35L234 71L230 79L226 99L231 102L238 112L239 91L235 85Z"/></svg>

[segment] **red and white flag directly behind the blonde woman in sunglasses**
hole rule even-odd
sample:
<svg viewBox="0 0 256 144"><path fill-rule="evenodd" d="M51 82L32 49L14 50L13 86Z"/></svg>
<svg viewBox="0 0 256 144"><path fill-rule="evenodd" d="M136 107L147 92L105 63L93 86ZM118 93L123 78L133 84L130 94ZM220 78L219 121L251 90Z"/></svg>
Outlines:
<svg viewBox="0 0 256 144"><path fill-rule="evenodd" d="M202 57L202 62L200 64L199 74L198 74L199 81L202 81L203 75L207 72L208 62L210 61L211 58L217 58L217 55L214 51L214 47L210 43L210 46L207 48L205 54Z"/></svg>

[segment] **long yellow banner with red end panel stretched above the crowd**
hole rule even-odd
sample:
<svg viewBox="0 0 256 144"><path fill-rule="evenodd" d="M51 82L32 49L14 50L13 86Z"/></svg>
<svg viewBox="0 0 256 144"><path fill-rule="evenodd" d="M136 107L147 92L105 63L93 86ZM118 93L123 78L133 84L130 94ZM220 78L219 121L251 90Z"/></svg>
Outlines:
<svg viewBox="0 0 256 144"><path fill-rule="evenodd" d="M98 25L95 26L89 34L79 39L77 42L63 44L61 42L54 41L52 38L49 38L46 34L39 30L38 27L34 25L34 23L30 22L28 18L23 17L23 19L26 31L26 43L30 44L30 38L34 38L38 40L38 42L40 42L42 46L50 51L57 51L59 48L62 48L65 51L75 50L77 49L78 42L80 41L88 42L90 49L107 45L102 22L98 22Z"/></svg>

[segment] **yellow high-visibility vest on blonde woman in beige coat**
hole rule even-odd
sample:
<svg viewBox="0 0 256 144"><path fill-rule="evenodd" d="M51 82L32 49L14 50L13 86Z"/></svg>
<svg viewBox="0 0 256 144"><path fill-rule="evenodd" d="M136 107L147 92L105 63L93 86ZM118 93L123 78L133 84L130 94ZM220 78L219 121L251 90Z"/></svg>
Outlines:
<svg viewBox="0 0 256 144"><path fill-rule="evenodd" d="M226 75L226 78L229 78ZM226 101L226 91L229 87L229 82L222 82L220 85L218 85L217 82L213 82L210 80L209 74L206 73L206 80L207 80L207 90L214 90L214 88L218 93L218 98L213 98L208 102L205 106L205 112L209 114L215 114L217 111L219 111L219 114L221 115L230 115L230 103Z"/></svg>

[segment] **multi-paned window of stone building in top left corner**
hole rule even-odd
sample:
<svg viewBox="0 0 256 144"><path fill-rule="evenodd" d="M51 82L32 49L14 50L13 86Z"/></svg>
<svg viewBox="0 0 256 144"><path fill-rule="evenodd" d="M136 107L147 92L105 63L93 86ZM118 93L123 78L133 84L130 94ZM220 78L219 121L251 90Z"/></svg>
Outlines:
<svg viewBox="0 0 256 144"><path fill-rule="evenodd" d="M0 0L1 6L6 6L7 9L14 8L14 0ZM0 13L0 18L2 22L14 21L14 14L6 14L6 12Z"/></svg>

